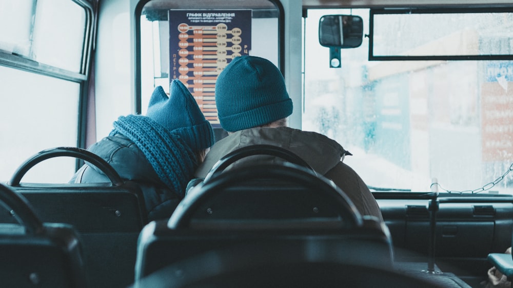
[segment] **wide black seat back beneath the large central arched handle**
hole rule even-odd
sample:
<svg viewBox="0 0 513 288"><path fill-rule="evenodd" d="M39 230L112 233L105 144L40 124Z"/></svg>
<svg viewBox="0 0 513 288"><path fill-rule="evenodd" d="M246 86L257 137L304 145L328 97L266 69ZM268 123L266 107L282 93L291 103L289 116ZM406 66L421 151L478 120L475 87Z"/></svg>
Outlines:
<svg viewBox="0 0 513 288"><path fill-rule="evenodd" d="M389 232L386 226L374 219L366 219L364 225L351 229L341 229L330 221L317 221L315 226L306 223L307 228L302 228L299 223L288 226L286 221L275 222L269 220L266 226L258 222L253 223L254 225L247 223L244 229L240 226L228 229L228 225L215 223L213 227L208 228L203 226L170 229L165 220L152 221L143 228L139 237L135 280L143 279L167 265L209 251L252 247L247 248L250 251L253 247L271 244L279 247L305 247L304 253L326 249L330 253L337 253L340 259L361 259L358 255L372 251L373 261L384 267L393 266ZM273 257L271 254L267 256ZM216 265L215 262L205 264Z"/></svg>

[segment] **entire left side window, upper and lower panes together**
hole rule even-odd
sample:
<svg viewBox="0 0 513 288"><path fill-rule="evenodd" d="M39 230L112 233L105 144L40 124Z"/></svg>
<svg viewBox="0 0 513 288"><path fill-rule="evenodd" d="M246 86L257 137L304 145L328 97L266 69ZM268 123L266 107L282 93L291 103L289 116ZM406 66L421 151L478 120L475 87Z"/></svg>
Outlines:
<svg viewBox="0 0 513 288"><path fill-rule="evenodd" d="M0 5L0 27L9 27L0 29L0 181L5 182L38 151L80 145L92 7L72 0L1 0ZM49 161L23 180L67 182L75 166L71 158Z"/></svg>

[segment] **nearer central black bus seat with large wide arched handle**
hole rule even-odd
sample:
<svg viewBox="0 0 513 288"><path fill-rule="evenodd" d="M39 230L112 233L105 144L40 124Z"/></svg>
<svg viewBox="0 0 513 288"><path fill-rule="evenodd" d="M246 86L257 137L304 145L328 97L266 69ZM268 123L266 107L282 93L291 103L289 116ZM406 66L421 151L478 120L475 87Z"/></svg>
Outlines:
<svg viewBox="0 0 513 288"><path fill-rule="evenodd" d="M141 232L135 280L211 250L269 243L340 246L341 258L370 250L374 261L393 265L383 223L363 218L331 181L283 163L227 170L194 187L167 223L152 221Z"/></svg>

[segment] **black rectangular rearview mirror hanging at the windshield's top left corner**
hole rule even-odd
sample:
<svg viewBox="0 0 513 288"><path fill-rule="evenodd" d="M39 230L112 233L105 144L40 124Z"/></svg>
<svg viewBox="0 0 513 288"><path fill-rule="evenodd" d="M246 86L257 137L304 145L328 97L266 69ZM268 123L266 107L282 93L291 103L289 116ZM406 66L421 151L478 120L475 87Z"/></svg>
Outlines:
<svg viewBox="0 0 513 288"><path fill-rule="evenodd" d="M324 15L319 20L319 43L324 47L357 48L362 45L363 20L354 15Z"/></svg>

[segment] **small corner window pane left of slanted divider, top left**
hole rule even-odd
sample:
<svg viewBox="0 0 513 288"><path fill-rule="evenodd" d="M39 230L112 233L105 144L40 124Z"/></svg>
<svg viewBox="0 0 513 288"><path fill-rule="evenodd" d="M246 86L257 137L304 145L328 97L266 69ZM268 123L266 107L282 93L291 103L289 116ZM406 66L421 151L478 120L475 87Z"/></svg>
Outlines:
<svg viewBox="0 0 513 288"><path fill-rule="evenodd" d="M34 0L0 0L0 50L30 56Z"/></svg>

